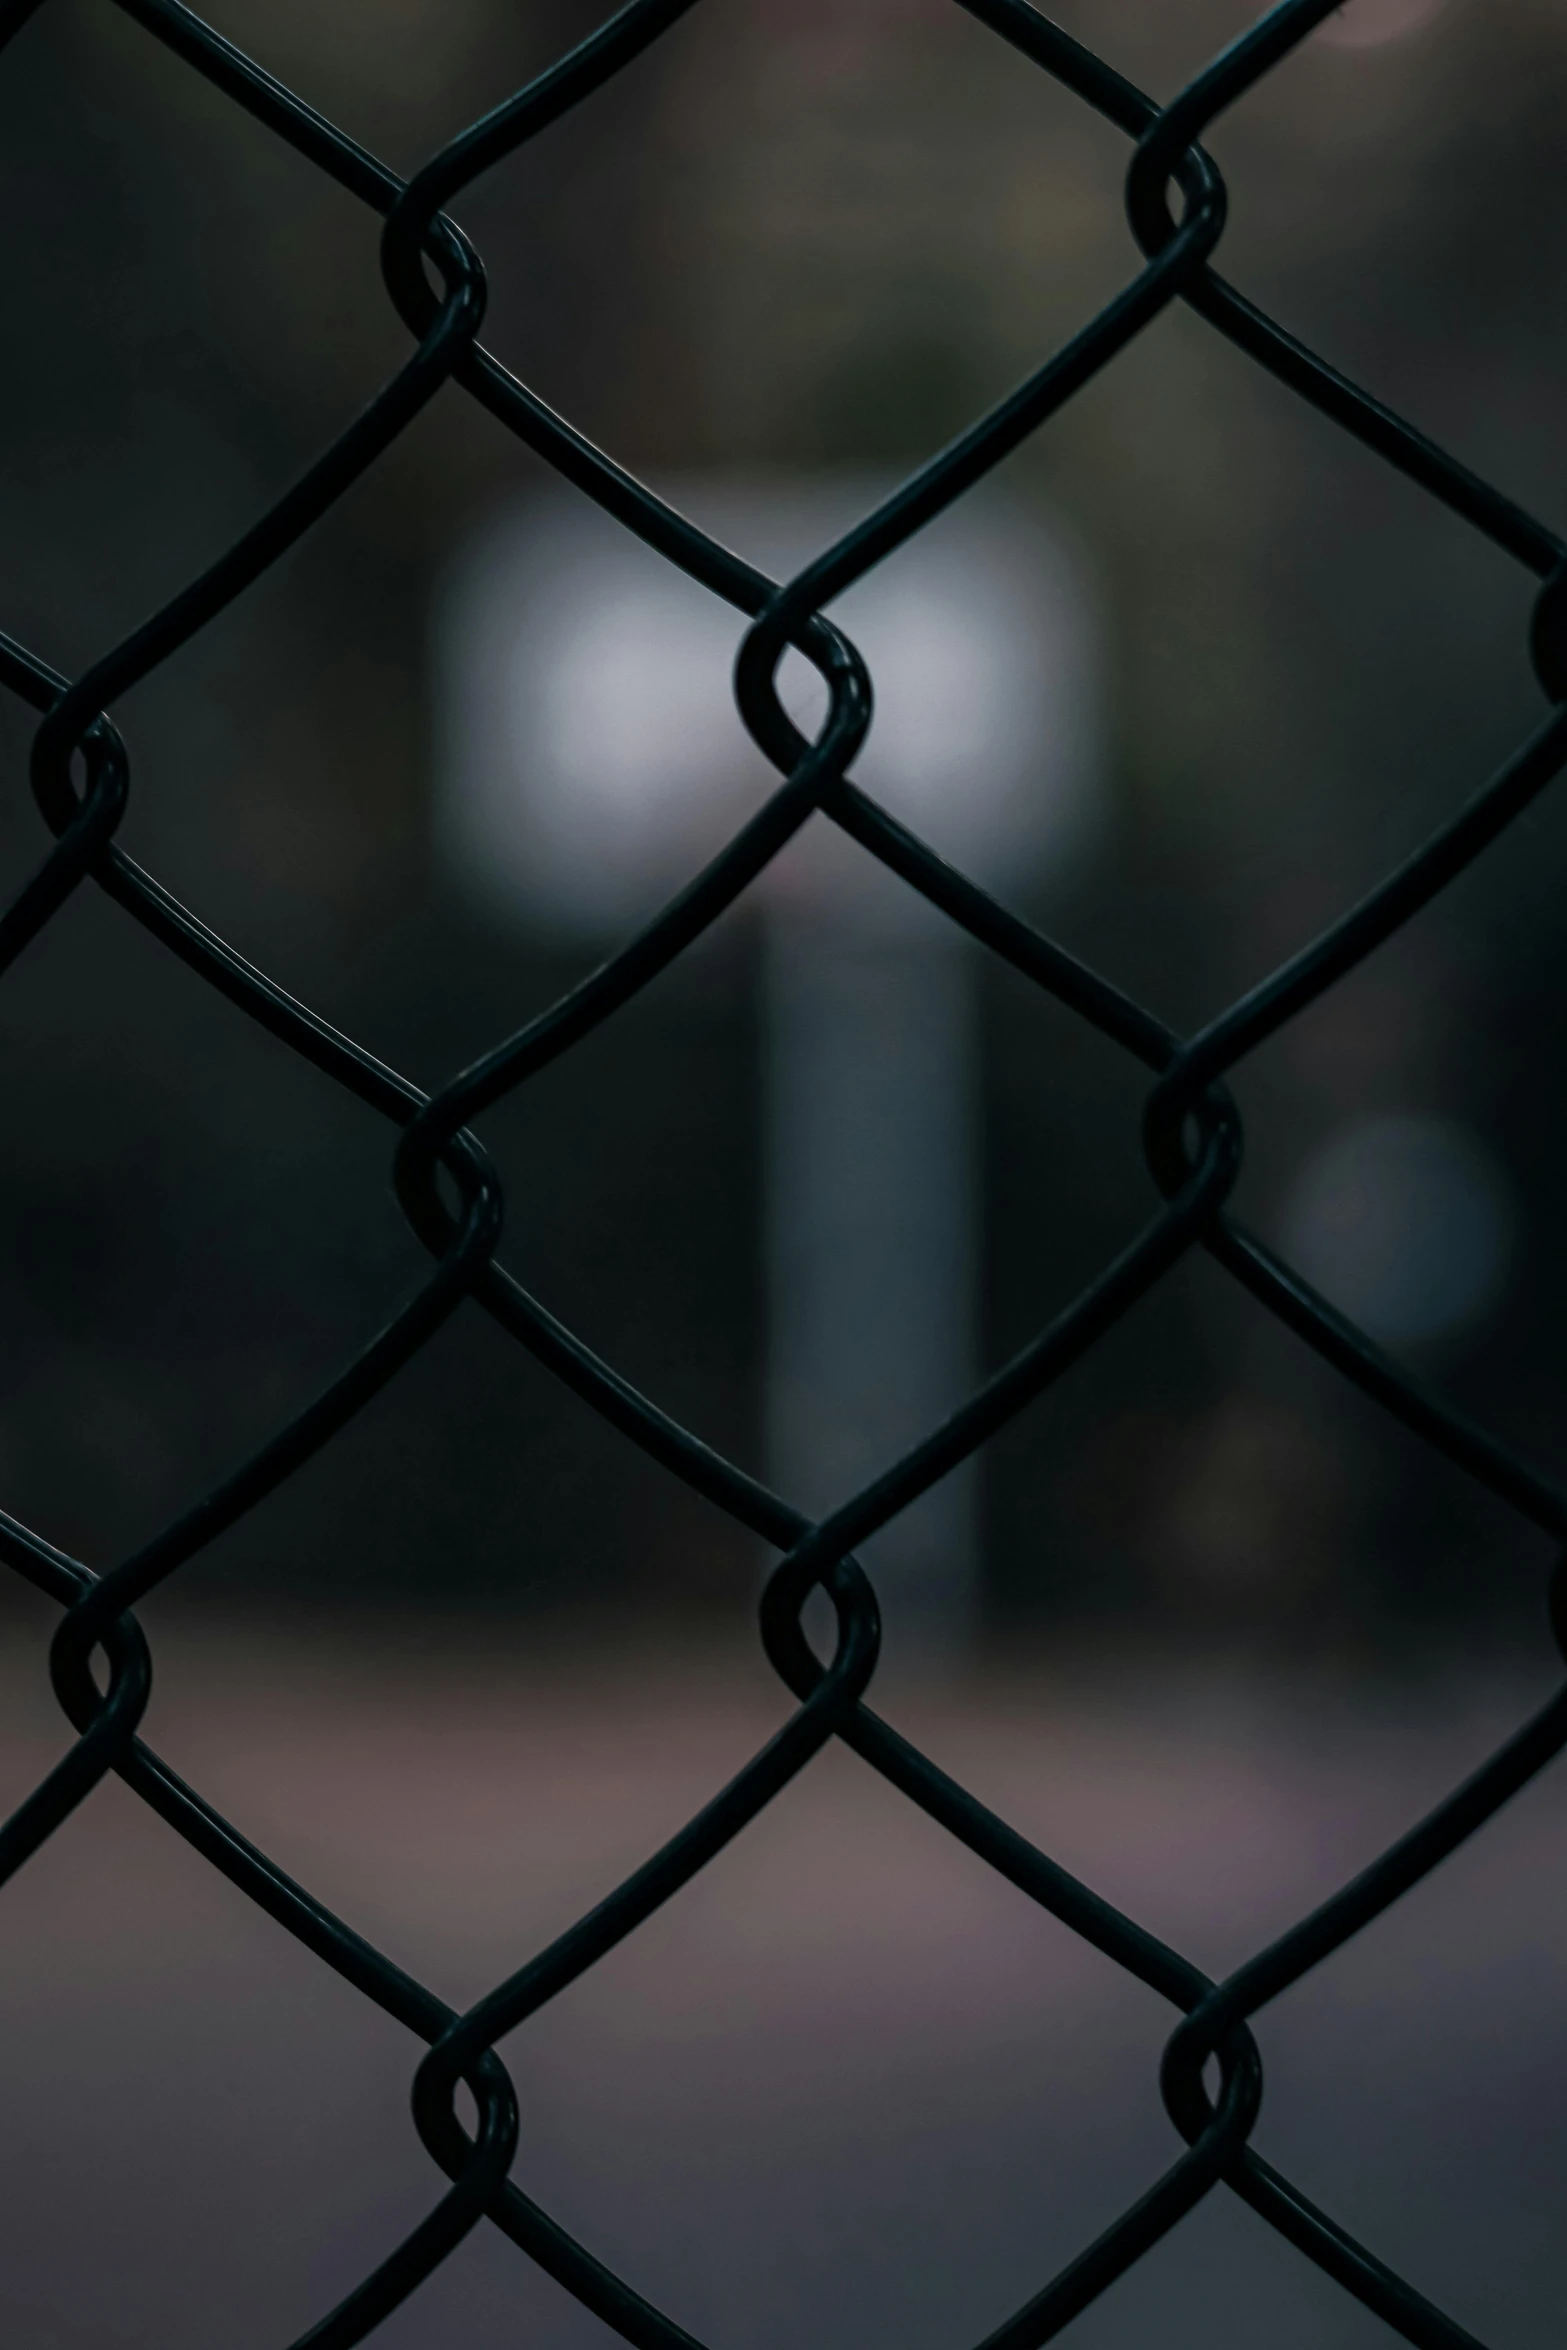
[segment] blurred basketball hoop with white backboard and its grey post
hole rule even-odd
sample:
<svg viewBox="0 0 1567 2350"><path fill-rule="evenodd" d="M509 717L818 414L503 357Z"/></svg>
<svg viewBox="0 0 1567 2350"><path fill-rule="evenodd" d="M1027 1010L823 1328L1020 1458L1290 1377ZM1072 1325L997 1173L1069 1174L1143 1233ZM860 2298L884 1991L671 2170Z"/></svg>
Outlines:
<svg viewBox="0 0 1567 2350"><path fill-rule="evenodd" d="M674 503L787 576L886 484L681 482ZM876 719L855 780L975 881L1027 898L1092 818L1092 630L1027 510L968 498L834 604ZM627 938L778 778L731 698L745 623L587 501L491 526L442 616L444 846L498 912ZM780 691L806 731L822 689ZM764 1253L768 1478L822 1516L980 1375L982 1100L963 933L825 818L768 867ZM977 1617L959 1469L865 1546L893 1633Z"/></svg>

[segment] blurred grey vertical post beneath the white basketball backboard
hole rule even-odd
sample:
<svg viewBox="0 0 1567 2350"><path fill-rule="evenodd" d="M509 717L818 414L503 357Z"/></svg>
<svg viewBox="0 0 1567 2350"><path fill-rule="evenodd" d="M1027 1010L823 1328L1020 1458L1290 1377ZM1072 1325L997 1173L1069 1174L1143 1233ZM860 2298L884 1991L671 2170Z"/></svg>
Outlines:
<svg viewBox="0 0 1567 2350"><path fill-rule="evenodd" d="M822 1516L975 1384L980 1083L968 940L773 907L766 938L768 1476ZM865 1544L895 1629L977 1612L966 1464Z"/></svg>

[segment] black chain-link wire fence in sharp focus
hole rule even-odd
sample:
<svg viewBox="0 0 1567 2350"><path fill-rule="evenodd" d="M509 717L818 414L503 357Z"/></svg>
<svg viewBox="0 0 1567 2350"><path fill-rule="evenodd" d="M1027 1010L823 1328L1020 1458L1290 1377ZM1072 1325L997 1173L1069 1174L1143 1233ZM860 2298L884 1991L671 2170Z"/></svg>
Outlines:
<svg viewBox="0 0 1567 2350"><path fill-rule="evenodd" d="M40 5L42 0L9 0L9 7L0 7L0 47ZM1548 1612L1558 1647L1567 1654L1562 1492L1412 1379L1226 1208L1243 1154L1240 1116L1229 1090L1233 1072L1473 865L1567 761L1567 545L1318 360L1212 268L1224 235L1226 188L1201 139L1229 106L1285 63L1332 12L1334 0L1283 0L1163 108L1029 0L961 0L1022 59L1132 139L1125 212L1142 266L1010 397L787 583L771 580L698 531L484 350L477 341L484 268L444 209L479 174L630 68L693 0L630 0L580 47L444 146L406 183L183 7L183 0L113 5L383 216L381 270L413 350L369 407L233 548L78 679L56 674L45 658L0 637L0 684L40 712L31 778L52 832L35 874L0 914L0 971L89 879L200 980L399 1128L395 1189L432 1269L303 1410L216 1490L108 1572L89 1572L0 1513L0 1558L63 1610L52 1645L52 1680L75 1730L75 1744L0 1828L0 1880L21 1868L94 1786L115 1772L268 1918L425 2042L413 2075L413 2122L446 2190L418 2228L298 2338L296 2350L345 2350L362 2341L482 2218L639 2350L693 2350L691 2336L674 2319L604 2268L510 2178L519 2113L496 2042L670 1901L839 1739L1010 1885L1179 2012L1161 2075L1179 2153L1092 2244L1024 2308L998 2322L980 2350L1034 2350L1052 2338L1219 2183L1405 2341L1421 2350L1475 2350L1464 2326L1433 2308L1255 2150L1262 2059L1252 2021L1428 1875L1560 1753L1567 1744L1567 1687L1360 1875L1226 1981L1212 1983L1137 1920L1038 1852L867 1706L879 1614L855 1560L855 1549L869 1535L1062 1379L1189 1250L1203 1248L1372 1403L1555 1539ZM1541 580L1529 651L1546 698L1558 705L1513 759L1360 905L1186 1039L977 888L860 790L850 768L872 719L872 679L850 639L825 618L846 588L973 489L1177 301ZM115 830L129 797L129 757L110 710L320 522L446 383L460 385L646 545L749 618L735 665L735 703L778 771L778 785L637 938L425 1097L228 947L117 846ZM789 646L815 665L827 686L827 717L815 740L796 731L775 691L778 665ZM813 818L839 825L982 947L1149 1069L1144 1152L1156 1191L1156 1208L1142 1231L1013 1361L820 1523L803 1518L641 1396L498 1262L500 1182L472 1135L472 1121L569 1053L665 971ZM611 1426L778 1549L780 1558L761 1598L761 1640L796 1711L728 1786L597 1908L465 2014L453 2014L296 1885L143 1744L139 1730L153 1666L134 1607L294 1476L470 1300ZM836 1617L829 1661L818 1657L801 1629L803 1605L818 1589L827 1593ZM1217 2066L1212 2089L1210 2066ZM460 2082L475 2099L472 2129L456 2110Z"/></svg>

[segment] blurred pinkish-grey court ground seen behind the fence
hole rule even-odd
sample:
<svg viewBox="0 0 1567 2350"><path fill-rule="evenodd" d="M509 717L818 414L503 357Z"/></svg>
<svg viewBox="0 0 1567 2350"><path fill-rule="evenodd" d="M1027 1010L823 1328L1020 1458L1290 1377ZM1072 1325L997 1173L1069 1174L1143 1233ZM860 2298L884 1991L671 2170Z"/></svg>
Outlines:
<svg viewBox="0 0 1567 2350"><path fill-rule="evenodd" d="M148 1734L463 2002L667 1835L780 1718L726 1650L536 1654L174 1631ZM5 1668L14 1800L61 1746ZM1541 1690L1022 1664L888 1711L1208 1969L1428 1805ZM1257 2143L1494 2350L1567 2291L1567 1781L1262 2019ZM519 2181L702 2341L975 2341L1170 2157L1170 2014L827 1753L505 2044ZM277 2345L432 2200L409 2037L108 1786L0 1908L7 2341ZM388 2350L608 2343L482 2230ZM1384 2329L1219 2195L1083 2350Z"/></svg>

